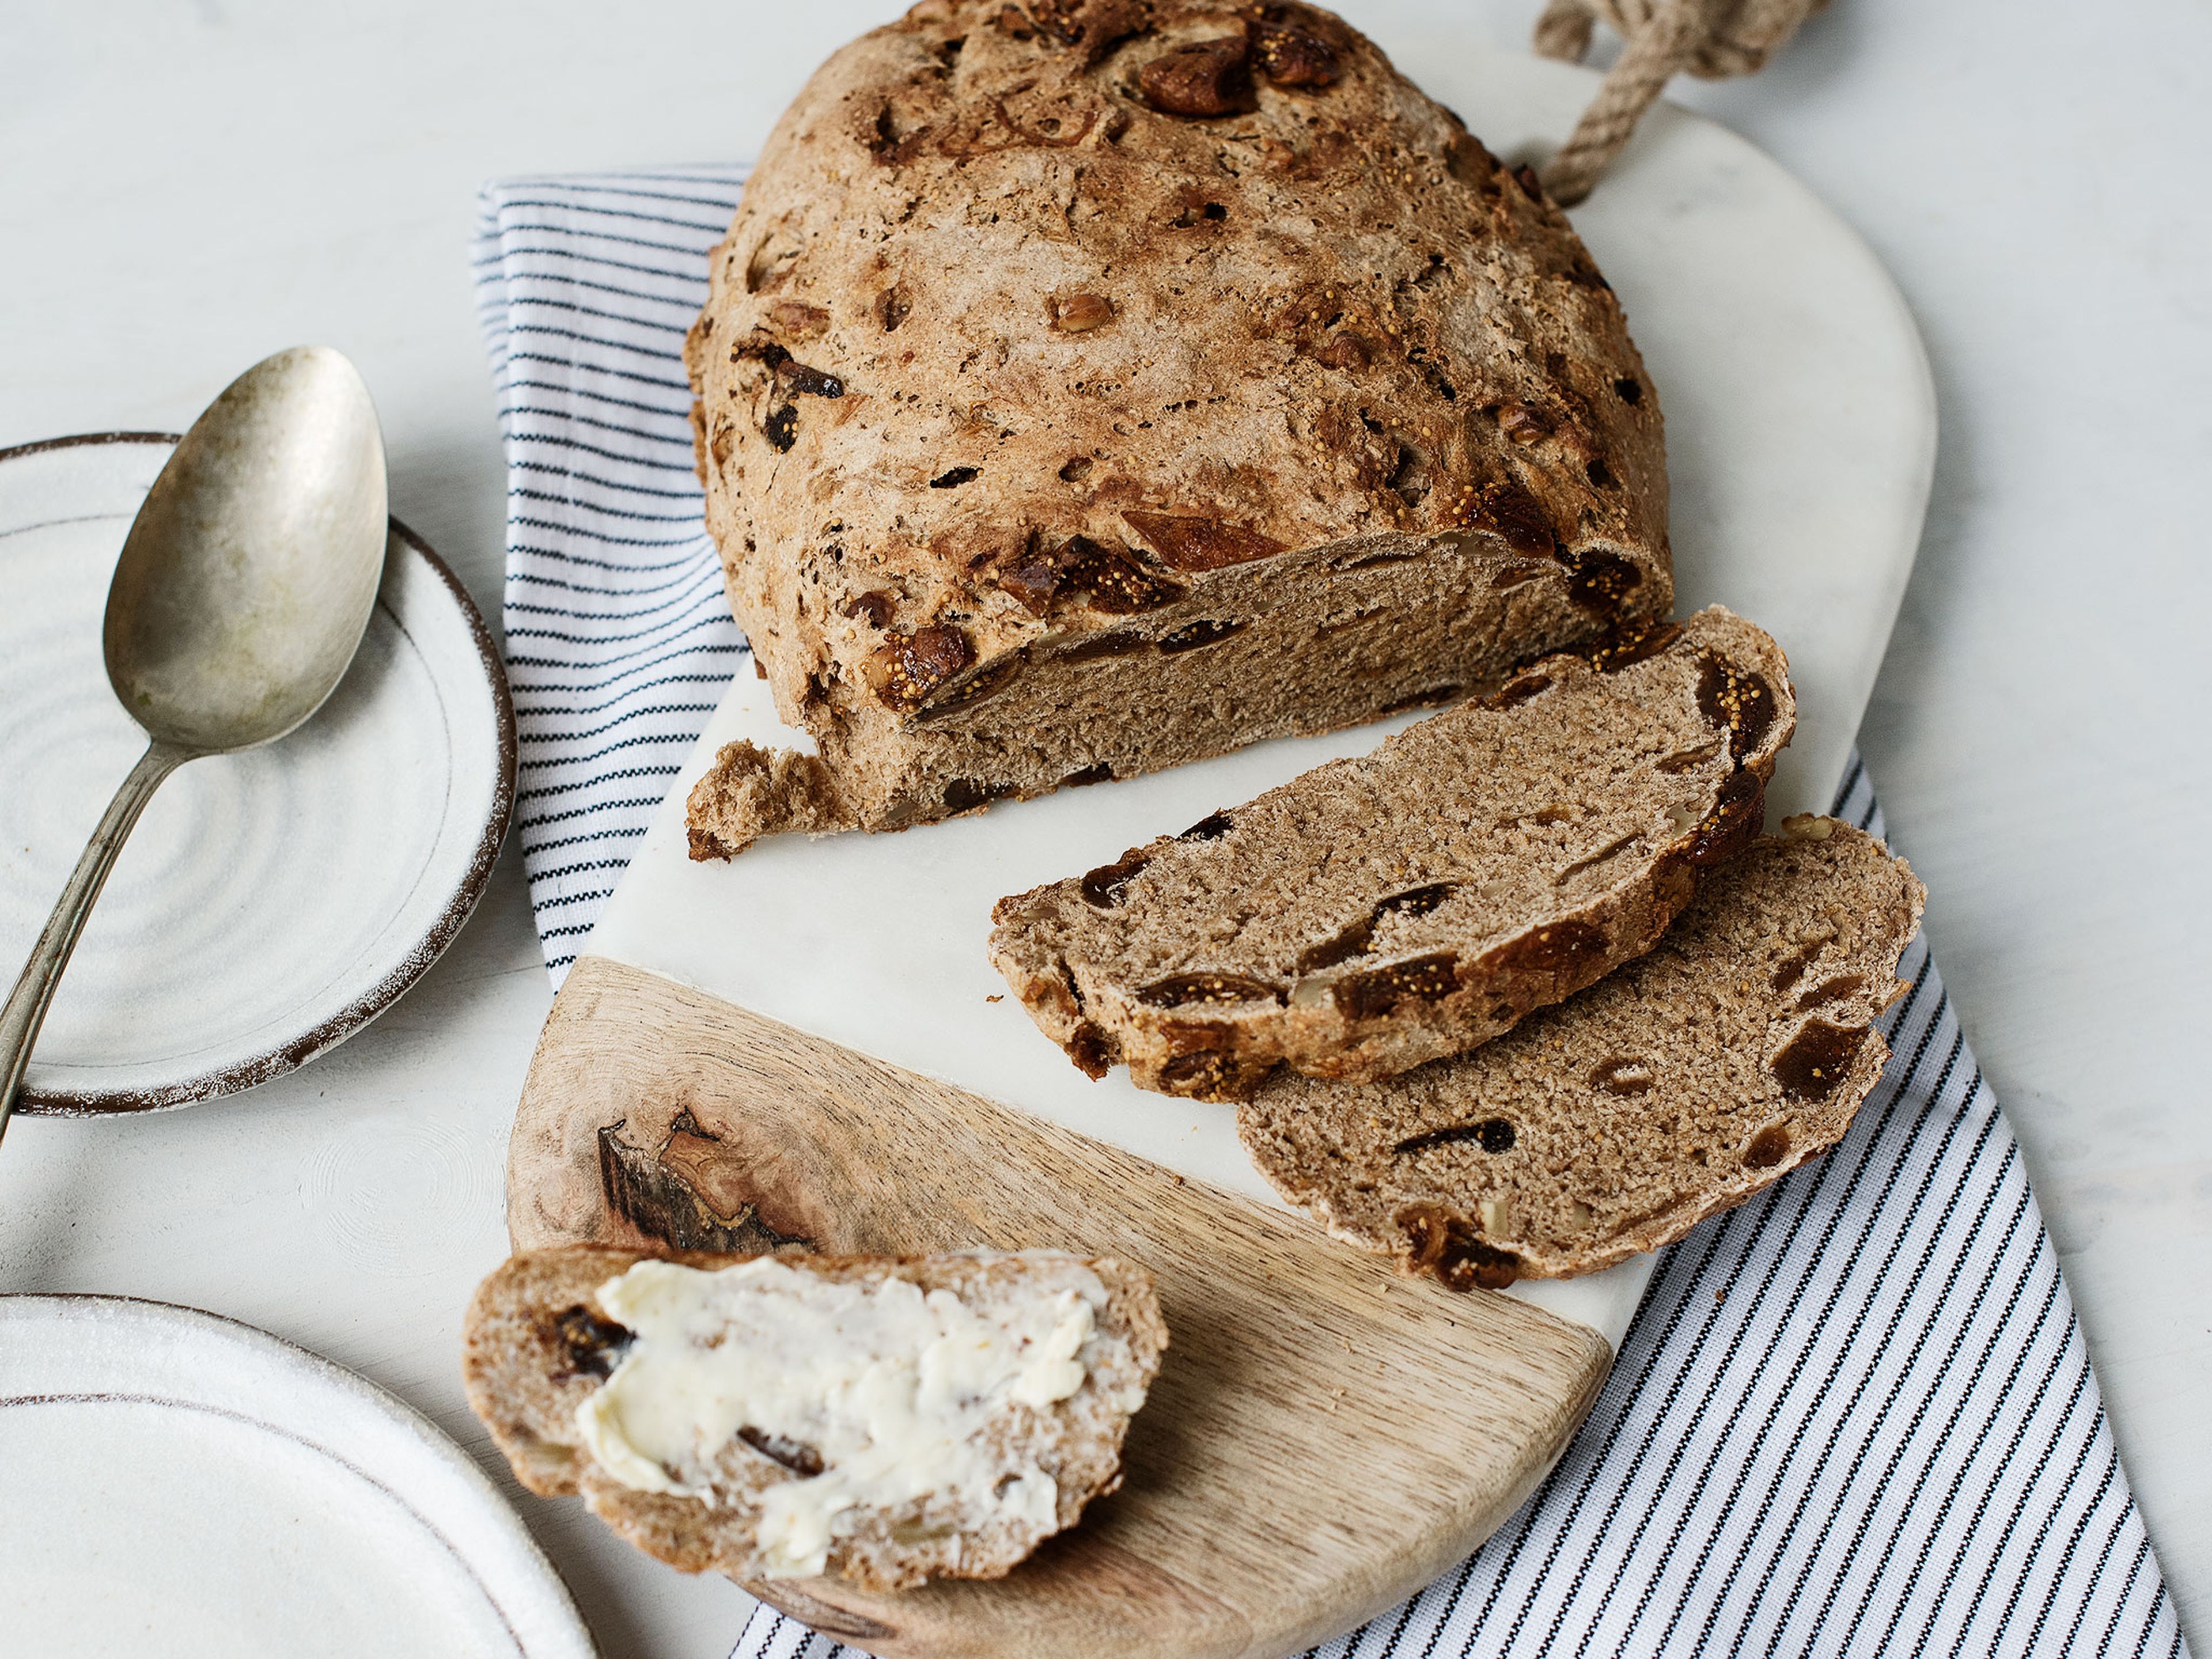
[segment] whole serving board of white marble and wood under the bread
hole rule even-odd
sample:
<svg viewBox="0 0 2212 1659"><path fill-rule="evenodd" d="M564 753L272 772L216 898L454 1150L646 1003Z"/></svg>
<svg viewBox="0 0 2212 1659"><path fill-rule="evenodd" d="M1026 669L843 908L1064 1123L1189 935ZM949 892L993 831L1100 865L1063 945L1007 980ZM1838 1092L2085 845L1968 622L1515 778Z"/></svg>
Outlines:
<svg viewBox="0 0 2212 1659"><path fill-rule="evenodd" d="M1595 88L1588 71L1442 42L1405 62L1509 161L1557 146ZM1679 608L1728 604L1790 653L1798 734L1767 812L1825 810L1933 467L1911 316L1818 199L1672 106L1573 219L1666 409ZM1150 1608L1144 1652L1287 1652L1464 1555L1557 1458L1650 1259L1506 1296L1394 1281L1283 1210L1230 1108L1084 1077L984 960L1002 894L1409 719L692 863L684 796L717 748L805 748L761 681L730 684L546 1022L509 1168L515 1241L1126 1250L1159 1274L1177 1345L1133 1429L1128 1489L1053 1564L907 1597L754 1590L885 1655L1135 1652L1099 1613L1117 1595ZM1349 1416L1347 1376L1369 1389ZM1347 1480L1325 1478L1338 1467ZM1383 1509L1354 1513L1354 1486L1380 1486ZM1276 1524L1254 1528L1261 1513Z"/></svg>

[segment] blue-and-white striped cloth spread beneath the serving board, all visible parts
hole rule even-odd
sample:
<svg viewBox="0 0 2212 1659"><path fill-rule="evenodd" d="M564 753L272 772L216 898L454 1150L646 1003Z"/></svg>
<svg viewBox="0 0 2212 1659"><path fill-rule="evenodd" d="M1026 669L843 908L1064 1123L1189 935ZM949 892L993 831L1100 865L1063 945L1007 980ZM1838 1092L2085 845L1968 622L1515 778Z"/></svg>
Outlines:
<svg viewBox="0 0 2212 1659"><path fill-rule="evenodd" d="M484 190L522 832L555 980L743 639L677 347L741 168ZM1838 812L1882 830L1854 765ZM1666 1252L1564 1462L1329 1659L2183 1655L2057 1256L1924 945L1849 1139ZM741 1659L843 1644L759 1608Z"/></svg>

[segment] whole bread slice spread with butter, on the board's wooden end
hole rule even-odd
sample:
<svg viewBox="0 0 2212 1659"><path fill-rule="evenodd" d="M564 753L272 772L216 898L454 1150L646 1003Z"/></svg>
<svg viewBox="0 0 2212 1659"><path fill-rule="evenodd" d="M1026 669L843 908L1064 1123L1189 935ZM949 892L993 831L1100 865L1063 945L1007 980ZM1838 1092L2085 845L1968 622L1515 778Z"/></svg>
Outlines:
<svg viewBox="0 0 2212 1659"><path fill-rule="evenodd" d="M630 1274L639 1263L648 1265ZM701 1272L670 1274L670 1263ZM670 1312L672 1298L703 1301ZM646 1334L622 1325L615 1307ZM942 1352L929 1369L918 1367L918 1340L900 1347L905 1334L927 1336L931 1321L942 1323L940 1349L964 1352L978 1352L969 1340L978 1329L1002 1325L1009 1363L1042 1365L1035 1376L1048 1385L1033 1387L1031 1371L1013 1387L1006 1376L995 1387L969 1378L971 1396L949 1389L956 1416L933 1418L929 1376L947 1376ZM869 1329L874 1347L854 1336ZM847 1336L856 1367L883 1363L834 1369ZM1002 1577L1113 1491L1121 1436L1166 1345L1150 1274L1113 1259L659 1259L566 1245L522 1252L478 1287L462 1374L515 1480L546 1498L582 1491L648 1555L686 1573L827 1571L896 1590L931 1577ZM726 1407L701 1416L655 1405L679 1398L670 1394L679 1367L719 1356L752 1367L743 1374L752 1394L732 1394L721 1374ZM860 1416L872 1400L891 1400L874 1425ZM900 1418L907 1407L914 1416ZM708 1420L714 1427L701 1429ZM900 1460L940 1436L951 1475L914 1491L916 1469Z"/></svg>

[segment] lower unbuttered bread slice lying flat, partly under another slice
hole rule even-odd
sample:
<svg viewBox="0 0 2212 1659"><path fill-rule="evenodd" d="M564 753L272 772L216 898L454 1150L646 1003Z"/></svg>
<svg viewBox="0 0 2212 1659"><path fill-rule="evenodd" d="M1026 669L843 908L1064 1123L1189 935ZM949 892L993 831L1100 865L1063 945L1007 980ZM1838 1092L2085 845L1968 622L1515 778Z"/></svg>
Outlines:
<svg viewBox="0 0 2212 1659"><path fill-rule="evenodd" d="M1274 1188L1453 1290L1657 1250L1843 1139L1889 1060L1922 887L1834 818L1719 869L1655 951L1385 1084L1283 1075L1237 1108Z"/></svg>

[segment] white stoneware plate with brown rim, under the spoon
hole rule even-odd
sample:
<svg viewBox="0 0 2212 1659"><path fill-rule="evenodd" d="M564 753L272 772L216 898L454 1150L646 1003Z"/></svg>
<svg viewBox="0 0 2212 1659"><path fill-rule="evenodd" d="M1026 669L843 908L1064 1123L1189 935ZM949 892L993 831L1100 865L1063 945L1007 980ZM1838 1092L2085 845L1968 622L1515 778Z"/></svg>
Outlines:
<svg viewBox="0 0 2212 1659"><path fill-rule="evenodd" d="M0 449L0 973L31 951L146 737L100 617L175 438ZM515 799L484 619L392 524L361 655L301 730L179 770L146 807L31 1055L18 1110L131 1113L252 1088L345 1042L451 945Z"/></svg>

